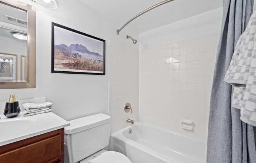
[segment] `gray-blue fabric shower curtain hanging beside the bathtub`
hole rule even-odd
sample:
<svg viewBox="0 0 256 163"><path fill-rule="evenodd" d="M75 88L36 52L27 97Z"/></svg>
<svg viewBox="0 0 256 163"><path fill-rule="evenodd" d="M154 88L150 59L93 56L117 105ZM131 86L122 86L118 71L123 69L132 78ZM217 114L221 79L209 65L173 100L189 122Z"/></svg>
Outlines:
<svg viewBox="0 0 256 163"><path fill-rule="evenodd" d="M253 11L253 0L223 0L223 22L212 85L207 163L256 163L254 127L231 107L232 87L223 82L236 42Z"/></svg>

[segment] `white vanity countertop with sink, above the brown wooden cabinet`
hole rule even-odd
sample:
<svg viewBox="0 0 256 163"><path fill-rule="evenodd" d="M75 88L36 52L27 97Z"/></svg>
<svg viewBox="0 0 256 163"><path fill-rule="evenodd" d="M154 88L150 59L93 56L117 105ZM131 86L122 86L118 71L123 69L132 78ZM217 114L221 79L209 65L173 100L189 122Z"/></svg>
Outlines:
<svg viewBox="0 0 256 163"><path fill-rule="evenodd" d="M1 116L0 146L58 130L69 125L68 121L53 112L15 118Z"/></svg>

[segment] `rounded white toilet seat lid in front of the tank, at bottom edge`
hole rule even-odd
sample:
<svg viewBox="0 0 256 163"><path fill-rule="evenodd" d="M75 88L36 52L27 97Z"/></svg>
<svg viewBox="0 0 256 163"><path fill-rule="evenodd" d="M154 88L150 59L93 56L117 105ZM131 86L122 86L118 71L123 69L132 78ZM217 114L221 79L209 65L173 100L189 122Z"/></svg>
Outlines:
<svg viewBox="0 0 256 163"><path fill-rule="evenodd" d="M114 151L106 151L94 159L91 163L132 163L124 154Z"/></svg>

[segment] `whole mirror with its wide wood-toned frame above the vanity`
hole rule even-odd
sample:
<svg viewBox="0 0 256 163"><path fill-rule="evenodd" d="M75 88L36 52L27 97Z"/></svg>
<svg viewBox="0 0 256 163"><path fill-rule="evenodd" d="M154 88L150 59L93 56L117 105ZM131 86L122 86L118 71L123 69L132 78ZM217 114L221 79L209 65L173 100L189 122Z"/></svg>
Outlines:
<svg viewBox="0 0 256 163"><path fill-rule="evenodd" d="M0 0L0 89L36 87L35 9Z"/></svg>

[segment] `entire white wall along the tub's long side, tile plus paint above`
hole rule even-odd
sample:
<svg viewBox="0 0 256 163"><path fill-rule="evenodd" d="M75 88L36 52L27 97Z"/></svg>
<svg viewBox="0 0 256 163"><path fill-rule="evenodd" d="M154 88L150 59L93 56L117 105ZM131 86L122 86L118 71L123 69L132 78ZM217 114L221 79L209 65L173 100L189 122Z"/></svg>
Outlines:
<svg viewBox="0 0 256 163"><path fill-rule="evenodd" d="M139 120L207 140L222 8L139 35ZM181 128L192 120L194 131Z"/></svg>

